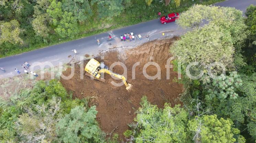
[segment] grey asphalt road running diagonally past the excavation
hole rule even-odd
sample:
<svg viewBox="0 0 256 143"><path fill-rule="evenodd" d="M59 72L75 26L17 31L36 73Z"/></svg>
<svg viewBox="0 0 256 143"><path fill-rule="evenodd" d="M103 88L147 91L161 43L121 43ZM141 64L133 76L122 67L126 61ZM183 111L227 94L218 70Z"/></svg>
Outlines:
<svg viewBox="0 0 256 143"><path fill-rule="evenodd" d="M216 3L215 5L229 6L241 11L245 11L247 6L249 6L250 4L256 5L256 0L227 0L221 3ZM187 30L179 28L175 24L175 22L163 25L159 22L159 19L154 19L149 22L140 23L121 29L101 33L98 35L93 35L90 37L37 49L19 55L1 58L0 67L3 67L6 72L3 73L2 71L0 71L0 78L18 75L14 71L14 68L18 68L22 73L24 73L24 69L21 67L21 64L24 64L25 61L29 62L30 65L33 64L34 70L38 70L40 69L40 65L42 66L48 62L51 62L53 66L56 66L60 63L68 63L72 57L80 59L80 56L84 57L85 54L97 55L99 51L106 50L113 46L133 46L139 43L144 43L148 40L147 38L142 38L141 41L136 40L136 42L134 43L121 42L120 35L131 31L134 34L141 34L142 37L149 35L151 36L150 40L153 40L162 37L162 32L167 33L166 36L181 35ZM107 42L108 35L112 35L114 40L112 40L111 42ZM97 45L97 39L99 39L101 42L100 46ZM74 55L73 49L77 50L77 55ZM71 58L69 58L69 55L71 55ZM46 66L45 68L47 67L49 66Z"/></svg>

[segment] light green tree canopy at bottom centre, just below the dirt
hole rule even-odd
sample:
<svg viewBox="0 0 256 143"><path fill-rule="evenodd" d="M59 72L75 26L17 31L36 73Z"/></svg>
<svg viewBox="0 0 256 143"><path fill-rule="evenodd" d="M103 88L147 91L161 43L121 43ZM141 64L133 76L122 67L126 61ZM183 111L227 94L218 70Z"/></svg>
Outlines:
<svg viewBox="0 0 256 143"><path fill-rule="evenodd" d="M142 107L138 109L134 119L140 132L134 137L136 142L185 142L187 113L175 105L165 104L163 110L152 105L147 98L142 98Z"/></svg>

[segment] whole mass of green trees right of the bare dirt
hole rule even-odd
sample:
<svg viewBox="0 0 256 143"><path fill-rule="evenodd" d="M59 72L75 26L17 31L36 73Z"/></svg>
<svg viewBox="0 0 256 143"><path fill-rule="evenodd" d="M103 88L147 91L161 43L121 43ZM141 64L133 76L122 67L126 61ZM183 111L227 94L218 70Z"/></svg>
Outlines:
<svg viewBox="0 0 256 143"><path fill-rule="evenodd" d="M158 109L143 98L136 123L124 133L128 141L256 142L256 6L246 16L204 5L180 15L177 23L193 28L170 48L175 70L181 64L183 108ZM209 23L200 26L203 19ZM186 69L191 62L196 63Z"/></svg>

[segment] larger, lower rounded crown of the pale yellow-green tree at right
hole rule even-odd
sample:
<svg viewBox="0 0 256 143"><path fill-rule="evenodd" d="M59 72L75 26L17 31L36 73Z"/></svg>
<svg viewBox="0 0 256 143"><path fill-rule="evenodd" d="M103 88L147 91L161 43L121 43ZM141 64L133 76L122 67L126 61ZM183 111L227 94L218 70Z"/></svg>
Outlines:
<svg viewBox="0 0 256 143"><path fill-rule="evenodd" d="M199 62L199 65L209 66L213 62L221 62L225 67L230 67L234 54L231 41L229 33L217 25L209 24L182 35L181 40L171 46L170 52L183 65Z"/></svg>

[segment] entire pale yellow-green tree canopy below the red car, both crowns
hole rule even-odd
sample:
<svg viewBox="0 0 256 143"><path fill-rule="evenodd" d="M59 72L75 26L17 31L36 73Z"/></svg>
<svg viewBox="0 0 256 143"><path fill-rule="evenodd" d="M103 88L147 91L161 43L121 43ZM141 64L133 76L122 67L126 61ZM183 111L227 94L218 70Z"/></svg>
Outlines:
<svg viewBox="0 0 256 143"><path fill-rule="evenodd" d="M203 24L204 20L207 23ZM178 57L183 67L197 62L197 66L193 66L194 73L198 75L203 71L210 76L211 73L220 75L223 70L232 71L235 67L244 66L244 62L238 57L242 56L241 46L248 32L241 11L194 5L180 15L177 24L193 28L170 48L170 52ZM209 81L208 76L203 77L201 80Z"/></svg>

